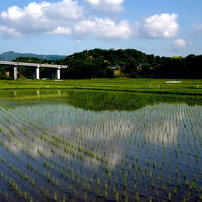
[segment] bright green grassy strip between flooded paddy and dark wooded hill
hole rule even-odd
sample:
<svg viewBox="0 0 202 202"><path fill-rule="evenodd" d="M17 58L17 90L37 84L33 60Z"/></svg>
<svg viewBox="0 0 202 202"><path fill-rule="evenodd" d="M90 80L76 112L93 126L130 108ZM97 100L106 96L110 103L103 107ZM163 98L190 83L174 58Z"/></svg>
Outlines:
<svg viewBox="0 0 202 202"><path fill-rule="evenodd" d="M166 83L181 81L181 83ZM86 80L17 80L0 81L0 90L9 89L91 89L128 92L155 92L202 95L202 79L86 79Z"/></svg>

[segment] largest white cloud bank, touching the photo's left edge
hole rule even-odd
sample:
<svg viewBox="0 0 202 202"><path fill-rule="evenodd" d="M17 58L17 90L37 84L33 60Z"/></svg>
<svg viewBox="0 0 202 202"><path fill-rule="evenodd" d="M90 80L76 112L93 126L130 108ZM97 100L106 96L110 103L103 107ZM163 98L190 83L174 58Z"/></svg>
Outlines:
<svg viewBox="0 0 202 202"><path fill-rule="evenodd" d="M73 0L58 3L33 2L24 9L13 6L0 15L2 27L7 28L1 28L0 35L5 35L8 30L18 33L10 34L13 37L36 33L71 34L69 26L82 15L83 8Z"/></svg>

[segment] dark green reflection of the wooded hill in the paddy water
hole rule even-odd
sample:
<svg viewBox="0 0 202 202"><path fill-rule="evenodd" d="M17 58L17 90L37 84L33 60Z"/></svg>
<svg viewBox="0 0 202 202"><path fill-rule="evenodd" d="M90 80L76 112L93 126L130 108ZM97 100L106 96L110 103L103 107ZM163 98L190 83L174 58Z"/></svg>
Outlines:
<svg viewBox="0 0 202 202"><path fill-rule="evenodd" d="M82 109L101 110L136 110L158 103L186 103L190 106L202 105L200 96L166 95L154 93L120 93L71 91L68 104Z"/></svg>

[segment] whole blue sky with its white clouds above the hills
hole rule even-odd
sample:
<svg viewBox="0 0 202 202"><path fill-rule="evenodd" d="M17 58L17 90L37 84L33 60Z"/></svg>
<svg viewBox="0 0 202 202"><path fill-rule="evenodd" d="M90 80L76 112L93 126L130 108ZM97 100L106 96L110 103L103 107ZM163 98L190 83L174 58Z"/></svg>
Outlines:
<svg viewBox="0 0 202 202"><path fill-rule="evenodd" d="M0 53L133 48L168 57L201 55L201 8L201 0L6 0Z"/></svg>

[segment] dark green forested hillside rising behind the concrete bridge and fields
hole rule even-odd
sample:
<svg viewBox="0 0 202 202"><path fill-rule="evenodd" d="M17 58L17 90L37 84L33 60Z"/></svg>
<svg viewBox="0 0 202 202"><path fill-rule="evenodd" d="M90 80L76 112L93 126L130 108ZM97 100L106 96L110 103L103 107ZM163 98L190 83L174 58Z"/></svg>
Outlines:
<svg viewBox="0 0 202 202"><path fill-rule="evenodd" d="M120 71L119 76L134 78L202 78L202 55L193 54L187 57L160 57L135 49L93 49L60 60L20 57L15 61L68 65L61 74L62 79L113 78L114 70ZM20 70L24 76L29 74L26 68L21 67ZM40 71L47 75L49 70L41 68Z"/></svg>

